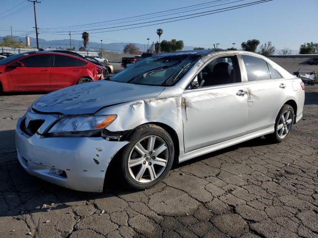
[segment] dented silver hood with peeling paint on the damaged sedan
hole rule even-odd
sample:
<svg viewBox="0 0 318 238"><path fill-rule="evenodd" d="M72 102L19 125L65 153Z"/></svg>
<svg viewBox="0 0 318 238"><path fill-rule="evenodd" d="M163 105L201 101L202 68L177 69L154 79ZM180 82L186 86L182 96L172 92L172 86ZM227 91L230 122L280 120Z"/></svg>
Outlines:
<svg viewBox="0 0 318 238"><path fill-rule="evenodd" d="M109 105L157 97L164 88L99 80L46 94L34 102L33 108L43 113L93 114Z"/></svg>

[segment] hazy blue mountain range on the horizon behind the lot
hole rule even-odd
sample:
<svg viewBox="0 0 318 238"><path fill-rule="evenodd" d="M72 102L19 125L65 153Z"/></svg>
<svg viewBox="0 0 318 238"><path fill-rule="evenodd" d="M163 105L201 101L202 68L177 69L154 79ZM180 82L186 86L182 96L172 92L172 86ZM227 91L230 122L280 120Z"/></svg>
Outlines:
<svg viewBox="0 0 318 238"><path fill-rule="evenodd" d="M0 36L0 40L2 40L3 37ZM25 44L25 37L14 37L16 40L20 40ZM108 43L103 44L103 49L107 51L115 51L115 52L123 52L125 46L131 42L127 43ZM147 44L139 44L139 43L133 43L136 45L136 47L139 48L140 51L147 50ZM30 45L31 47L36 47L36 39L30 37ZM79 47L83 46L83 42L81 40L73 40L72 39L72 47L75 47L76 50L79 50ZM51 40L47 41L44 39L39 38L39 47L42 49L46 48L69 48L70 47L70 40L64 39L64 40ZM150 46L149 46L150 47ZM194 47L192 46L185 46L183 48L184 51L193 50ZM100 43L98 42L89 42L88 46L86 47L86 50L99 50L100 49Z"/></svg>

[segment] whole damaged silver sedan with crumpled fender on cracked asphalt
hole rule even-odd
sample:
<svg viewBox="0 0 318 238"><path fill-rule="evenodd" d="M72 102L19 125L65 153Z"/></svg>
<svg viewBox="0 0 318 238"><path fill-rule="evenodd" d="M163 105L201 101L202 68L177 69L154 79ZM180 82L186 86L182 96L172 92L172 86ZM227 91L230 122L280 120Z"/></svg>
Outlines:
<svg viewBox="0 0 318 238"><path fill-rule="evenodd" d="M71 189L101 192L110 169L146 189L173 163L262 135L281 142L304 98L299 78L254 53L165 53L40 97L17 122L17 156Z"/></svg>

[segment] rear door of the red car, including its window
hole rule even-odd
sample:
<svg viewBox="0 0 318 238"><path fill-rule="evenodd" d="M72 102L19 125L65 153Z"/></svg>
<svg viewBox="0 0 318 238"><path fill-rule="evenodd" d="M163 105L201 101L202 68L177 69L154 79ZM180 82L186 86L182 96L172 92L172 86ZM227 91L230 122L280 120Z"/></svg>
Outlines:
<svg viewBox="0 0 318 238"><path fill-rule="evenodd" d="M75 85L82 76L83 65L87 64L79 58L54 55L51 69L51 88L57 90Z"/></svg>

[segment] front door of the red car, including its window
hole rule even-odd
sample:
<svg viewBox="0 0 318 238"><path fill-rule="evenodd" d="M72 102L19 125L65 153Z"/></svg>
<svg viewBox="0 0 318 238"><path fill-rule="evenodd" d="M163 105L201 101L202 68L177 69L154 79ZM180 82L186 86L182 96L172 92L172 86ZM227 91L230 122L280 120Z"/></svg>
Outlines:
<svg viewBox="0 0 318 238"><path fill-rule="evenodd" d="M18 61L24 66L12 68L7 74L10 90L50 91L51 55L31 55Z"/></svg>

